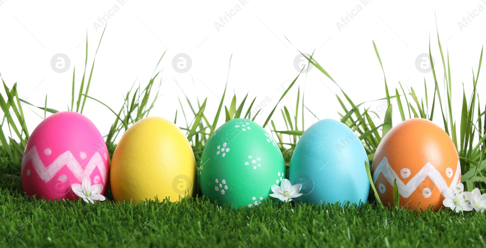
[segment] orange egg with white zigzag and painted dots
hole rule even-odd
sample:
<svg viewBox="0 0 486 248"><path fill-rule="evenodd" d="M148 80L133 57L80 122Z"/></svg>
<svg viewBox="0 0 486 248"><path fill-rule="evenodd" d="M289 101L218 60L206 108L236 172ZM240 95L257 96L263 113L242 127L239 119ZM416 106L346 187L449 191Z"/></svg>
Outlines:
<svg viewBox="0 0 486 248"><path fill-rule="evenodd" d="M444 188L461 181L456 148L442 128L427 119L401 122L383 137L373 158L373 182L383 205L393 204L397 179L400 206L443 207Z"/></svg>

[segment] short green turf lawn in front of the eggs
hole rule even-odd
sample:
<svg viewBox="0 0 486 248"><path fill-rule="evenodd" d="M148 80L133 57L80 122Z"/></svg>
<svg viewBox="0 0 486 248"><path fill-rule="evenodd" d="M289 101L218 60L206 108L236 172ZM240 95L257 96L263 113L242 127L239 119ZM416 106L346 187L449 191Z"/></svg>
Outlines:
<svg viewBox="0 0 486 248"><path fill-rule="evenodd" d="M29 200L1 159L0 247L486 247L486 215L362 206ZM108 195L108 197L110 197Z"/></svg>

